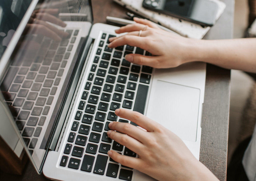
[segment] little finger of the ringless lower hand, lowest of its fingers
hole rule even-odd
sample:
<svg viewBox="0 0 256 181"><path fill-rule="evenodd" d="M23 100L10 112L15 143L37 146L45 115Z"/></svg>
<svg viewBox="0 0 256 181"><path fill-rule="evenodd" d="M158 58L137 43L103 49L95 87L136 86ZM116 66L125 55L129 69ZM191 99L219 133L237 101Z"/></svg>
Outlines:
<svg viewBox="0 0 256 181"><path fill-rule="evenodd" d="M121 163L124 166L128 166L130 168L134 168L138 170L140 165L142 164L142 160L140 158L133 158L131 156L120 155L118 152L114 150L108 151L108 155L118 163Z"/></svg>

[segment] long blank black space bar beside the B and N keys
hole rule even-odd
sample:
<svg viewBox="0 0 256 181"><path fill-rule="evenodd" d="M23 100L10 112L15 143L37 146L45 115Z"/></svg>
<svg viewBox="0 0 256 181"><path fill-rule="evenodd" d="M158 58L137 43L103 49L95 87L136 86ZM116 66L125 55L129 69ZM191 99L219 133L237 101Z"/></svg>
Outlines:
<svg viewBox="0 0 256 181"><path fill-rule="evenodd" d="M144 114L145 106L146 106L146 100L147 100L147 92L148 92L148 86L139 84L137 95L133 107L133 111L137 111L141 114ZM131 124L137 126L135 123L131 122Z"/></svg>

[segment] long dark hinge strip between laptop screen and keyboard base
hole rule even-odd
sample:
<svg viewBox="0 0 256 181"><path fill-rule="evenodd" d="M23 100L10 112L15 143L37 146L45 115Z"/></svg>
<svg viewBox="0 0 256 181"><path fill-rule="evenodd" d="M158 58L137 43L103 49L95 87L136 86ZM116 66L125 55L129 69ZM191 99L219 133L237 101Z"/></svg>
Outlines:
<svg viewBox="0 0 256 181"><path fill-rule="evenodd" d="M58 124L56 125L56 130L52 137L52 141L50 143L49 150L58 151L58 149L59 149L60 142L62 140L64 131L66 129L68 119L69 119L74 101L76 99L76 95L77 95L86 65L88 63L89 56L91 54L93 43L94 43L94 39L89 37L88 41L85 45L84 51L82 53L82 56L80 58L78 69L74 76L73 82L70 86L70 90L67 95L66 103L63 106L62 113L59 117Z"/></svg>

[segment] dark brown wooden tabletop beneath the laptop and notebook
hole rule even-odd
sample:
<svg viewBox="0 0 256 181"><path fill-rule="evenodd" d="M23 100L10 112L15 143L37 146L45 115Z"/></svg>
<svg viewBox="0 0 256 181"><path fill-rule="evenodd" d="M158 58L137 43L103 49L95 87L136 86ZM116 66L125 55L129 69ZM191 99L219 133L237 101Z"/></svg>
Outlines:
<svg viewBox="0 0 256 181"><path fill-rule="evenodd" d="M224 13L204 39L229 39L233 34L233 0L222 0L226 5ZM125 18L125 8L112 0L92 0L94 23L106 23L106 16ZM230 70L207 65L205 100L202 113L202 135L200 161L221 181L226 180L227 145L230 102ZM28 162L23 175L0 172L0 180L47 181L38 175Z"/></svg>

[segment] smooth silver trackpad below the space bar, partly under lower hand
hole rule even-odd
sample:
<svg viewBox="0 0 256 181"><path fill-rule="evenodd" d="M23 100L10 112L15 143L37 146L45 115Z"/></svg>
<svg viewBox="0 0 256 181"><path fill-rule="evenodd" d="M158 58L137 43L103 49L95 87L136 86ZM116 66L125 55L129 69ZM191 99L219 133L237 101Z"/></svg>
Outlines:
<svg viewBox="0 0 256 181"><path fill-rule="evenodd" d="M196 141L200 90L158 80L148 116L183 140Z"/></svg>

